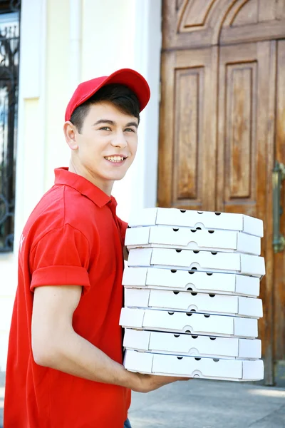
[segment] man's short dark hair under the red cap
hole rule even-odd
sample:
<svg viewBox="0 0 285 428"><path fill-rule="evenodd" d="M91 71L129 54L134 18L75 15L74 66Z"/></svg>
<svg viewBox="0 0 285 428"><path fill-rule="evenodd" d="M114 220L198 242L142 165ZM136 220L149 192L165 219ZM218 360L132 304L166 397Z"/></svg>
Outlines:
<svg viewBox="0 0 285 428"><path fill-rule="evenodd" d="M140 123L140 103L138 97L128 86L119 83L110 83L100 88L93 96L88 98L80 106L76 107L71 115L71 123L81 132L84 119L86 118L89 108L92 104L100 101L110 101L122 113L129 114L138 118Z"/></svg>

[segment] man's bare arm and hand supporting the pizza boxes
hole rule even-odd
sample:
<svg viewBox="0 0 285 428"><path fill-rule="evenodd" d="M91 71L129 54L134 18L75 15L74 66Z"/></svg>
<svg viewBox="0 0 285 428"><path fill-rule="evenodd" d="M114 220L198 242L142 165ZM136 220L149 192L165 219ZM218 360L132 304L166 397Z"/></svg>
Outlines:
<svg viewBox="0 0 285 428"><path fill-rule="evenodd" d="M72 319L80 298L81 287L76 285L36 287L31 337L33 358L38 365L138 392L184 379L128 372L78 335Z"/></svg>

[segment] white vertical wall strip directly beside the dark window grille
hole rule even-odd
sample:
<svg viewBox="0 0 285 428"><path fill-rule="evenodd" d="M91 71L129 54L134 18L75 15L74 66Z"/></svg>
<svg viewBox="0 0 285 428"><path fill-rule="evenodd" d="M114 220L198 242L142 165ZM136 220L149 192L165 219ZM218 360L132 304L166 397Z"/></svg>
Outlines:
<svg viewBox="0 0 285 428"><path fill-rule="evenodd" d="M44 1L24 0L21 8L19 121L16 163L14 253L0 255L0 370L6 366L11 310L17 284L17 250L21 228L43 194ZM36 180L35 180L36 177Z"/></svg>

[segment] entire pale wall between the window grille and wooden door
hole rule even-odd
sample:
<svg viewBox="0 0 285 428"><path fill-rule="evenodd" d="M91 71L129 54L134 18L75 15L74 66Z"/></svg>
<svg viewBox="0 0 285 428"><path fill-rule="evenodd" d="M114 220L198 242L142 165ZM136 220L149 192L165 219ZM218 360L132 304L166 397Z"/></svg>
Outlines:
<svg viewBox="0 0 285 428"><path fill-rule="evenodd" d="M0 370L6 365L19 236L29 213L68 165L62 126L80 81L135 68L150 83L138 156L114 186L118 215L156 203L161 0L22 0L15 252L0 255ZM4 280L3 280L4 278Z"/></svg>

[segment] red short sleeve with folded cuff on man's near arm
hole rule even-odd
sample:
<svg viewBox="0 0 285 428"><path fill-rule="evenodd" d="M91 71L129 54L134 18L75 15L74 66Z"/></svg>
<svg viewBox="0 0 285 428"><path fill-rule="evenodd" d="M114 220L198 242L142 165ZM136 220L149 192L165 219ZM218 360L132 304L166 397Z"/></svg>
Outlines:
<svg viewBox="0 0 285 428"><path fill-rule="evenodd" d="M31 291L41 285L81 285L90 288L89 243L71 225L51 230L31 250Z"/></svg>

